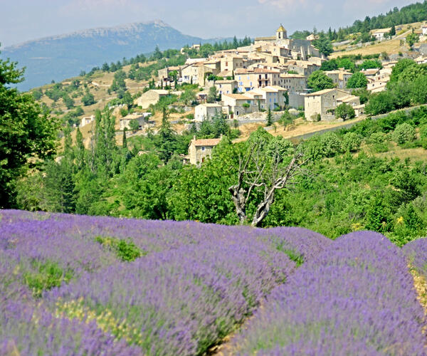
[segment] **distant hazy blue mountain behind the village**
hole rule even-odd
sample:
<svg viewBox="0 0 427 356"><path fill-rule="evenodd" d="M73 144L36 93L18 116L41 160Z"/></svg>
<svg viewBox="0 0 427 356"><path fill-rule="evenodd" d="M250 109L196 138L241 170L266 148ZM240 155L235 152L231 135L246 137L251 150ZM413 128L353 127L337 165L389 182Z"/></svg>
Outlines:
<svg viewBox="0 0 427 356"><path fill-rule="evenodd" d="M51 36L0 48L1 58L18 61L26 66L20 90L28 90L51 80L63 80L89 71L104 62L131 58L140 53L160 49L181 48L186 44L214 42L187 36L162 21L130 23L116 27L93 28L85 31Z"/></svg>

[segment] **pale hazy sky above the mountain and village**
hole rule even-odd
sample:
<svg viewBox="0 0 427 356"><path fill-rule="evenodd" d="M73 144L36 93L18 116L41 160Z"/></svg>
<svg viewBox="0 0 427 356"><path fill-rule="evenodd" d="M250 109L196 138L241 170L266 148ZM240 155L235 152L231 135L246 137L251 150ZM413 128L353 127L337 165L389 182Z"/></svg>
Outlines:
<svg viewBox="0 0 427 356"><path fill-rule="evenodd" d="M202 38L338 28L415 0L0 0L1 46L86 28L161 19Z"/></svg>

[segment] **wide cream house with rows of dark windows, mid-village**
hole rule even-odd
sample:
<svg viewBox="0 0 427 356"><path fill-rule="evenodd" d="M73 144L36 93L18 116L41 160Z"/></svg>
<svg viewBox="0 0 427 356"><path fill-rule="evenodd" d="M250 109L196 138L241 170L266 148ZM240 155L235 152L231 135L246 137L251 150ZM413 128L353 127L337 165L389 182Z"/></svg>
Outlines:
<svg viewBox="0 0 427 356"><path fill-rule="evenodd" d="M263 88L268 85L278 85L280 70L268 70L263 68L236 69L234 79L238 82L238 91L246 92L255 88Z"/></svg>

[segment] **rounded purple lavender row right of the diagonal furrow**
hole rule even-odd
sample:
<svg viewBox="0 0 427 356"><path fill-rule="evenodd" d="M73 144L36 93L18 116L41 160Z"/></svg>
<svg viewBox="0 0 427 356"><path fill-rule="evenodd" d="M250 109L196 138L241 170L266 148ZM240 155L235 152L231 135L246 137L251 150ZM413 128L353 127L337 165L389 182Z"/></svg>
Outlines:
<svg viewBox="0 0 427 356"><path fill-rule="evenodd" d="M405 256L425 273L426 242L402 251L374 232L340 237L272 291L236 355L426 355Z"/></svg>

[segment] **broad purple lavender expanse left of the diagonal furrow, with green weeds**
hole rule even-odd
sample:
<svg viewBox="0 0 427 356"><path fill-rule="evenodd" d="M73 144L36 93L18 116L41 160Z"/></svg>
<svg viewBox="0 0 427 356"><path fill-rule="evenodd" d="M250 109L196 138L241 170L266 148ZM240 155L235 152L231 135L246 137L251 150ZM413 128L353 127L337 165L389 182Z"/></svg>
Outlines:
<svg viewBox="0 0 427 356"><path fill-rule="evenodd" d="M0 353L21 355L201 354L289 278L294 261L330 244L304 229L0 216ZM121 262L100 244L111 239L144 256ZM53 289L37 300L31 283L40 280Z"/></svg>

